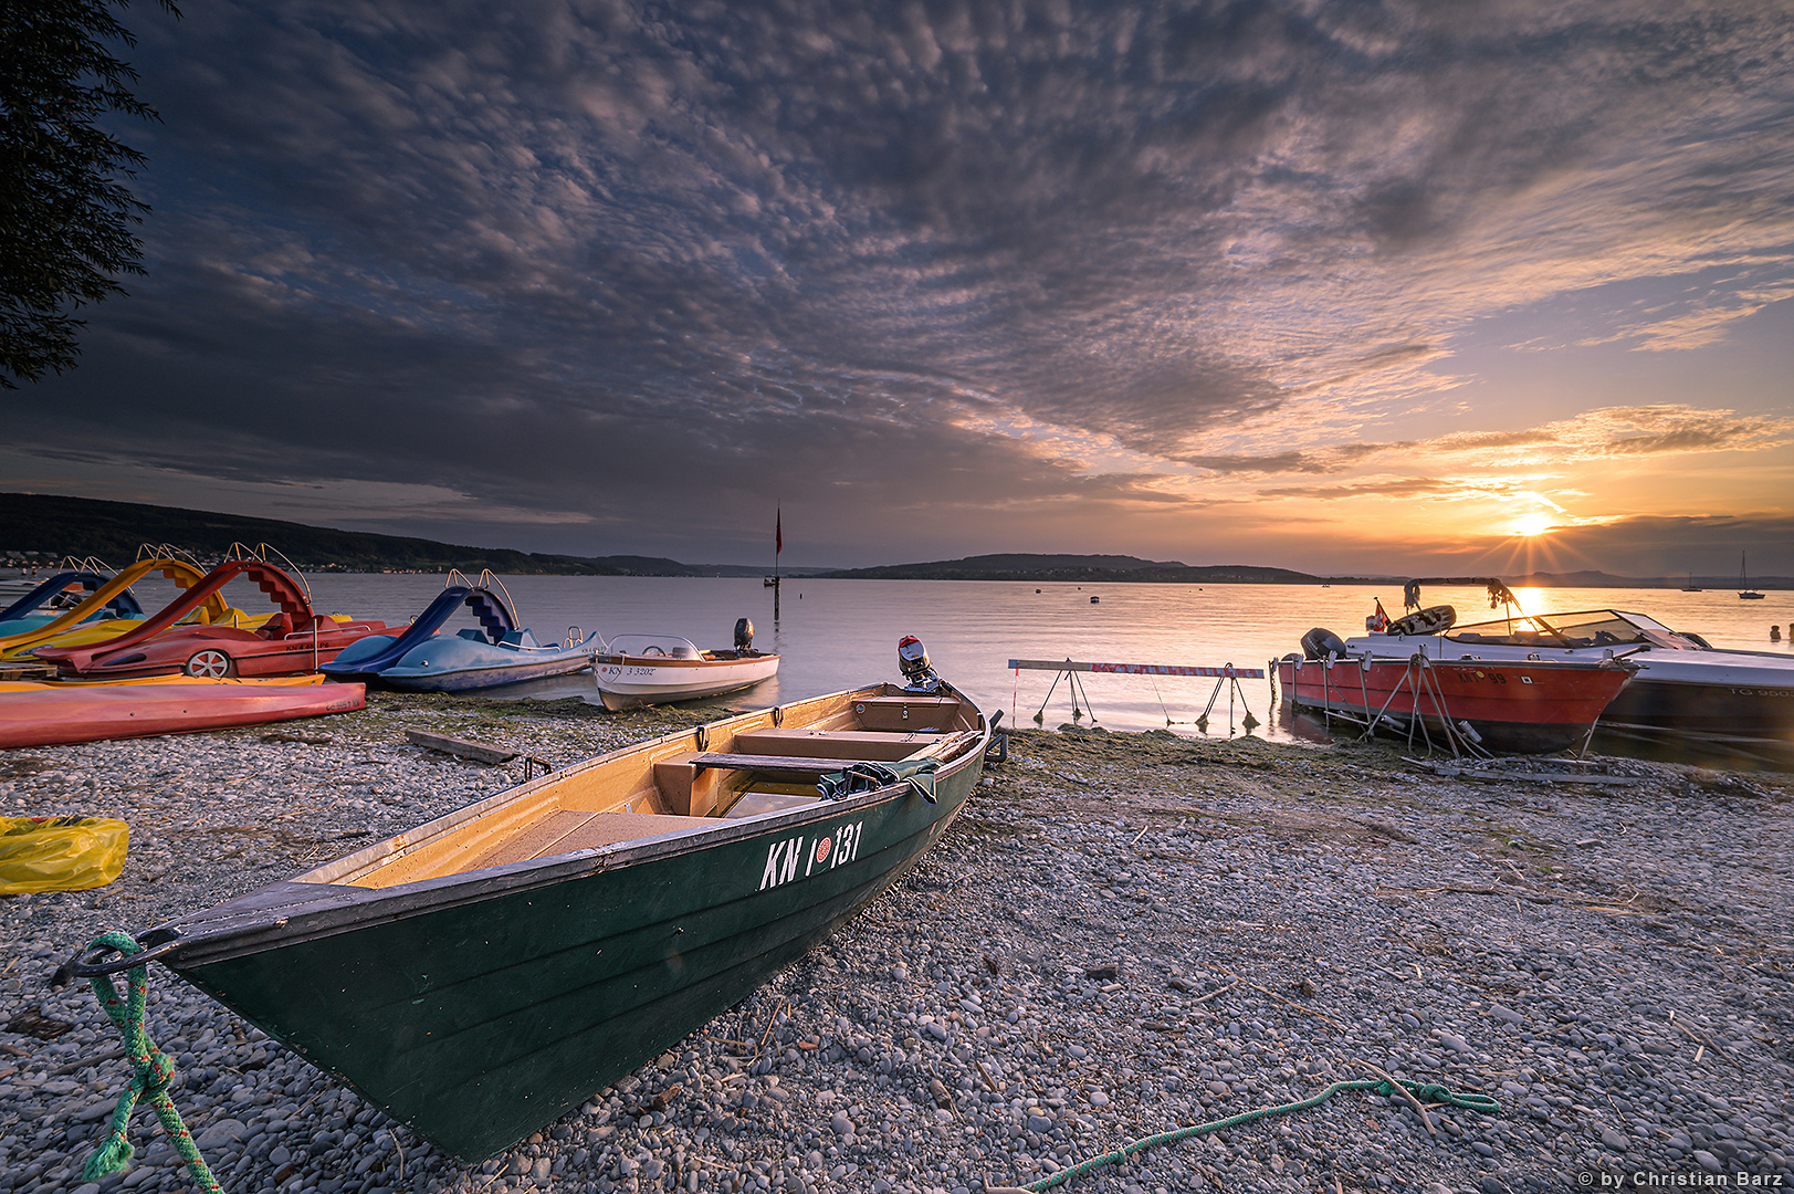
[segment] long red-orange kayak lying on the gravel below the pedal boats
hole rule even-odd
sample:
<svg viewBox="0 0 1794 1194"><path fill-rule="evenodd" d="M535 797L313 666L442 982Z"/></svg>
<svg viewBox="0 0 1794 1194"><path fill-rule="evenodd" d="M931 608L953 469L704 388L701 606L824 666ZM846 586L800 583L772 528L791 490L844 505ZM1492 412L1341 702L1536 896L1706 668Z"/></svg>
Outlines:
<svg viewBox="0 0 1794 1194"><path fill-rule="evenodd" d="M260 725L350 713L368 700L362 684L323 680L321 675L271 680L178 675L111 684L0 684L0 749Z"/></svg>

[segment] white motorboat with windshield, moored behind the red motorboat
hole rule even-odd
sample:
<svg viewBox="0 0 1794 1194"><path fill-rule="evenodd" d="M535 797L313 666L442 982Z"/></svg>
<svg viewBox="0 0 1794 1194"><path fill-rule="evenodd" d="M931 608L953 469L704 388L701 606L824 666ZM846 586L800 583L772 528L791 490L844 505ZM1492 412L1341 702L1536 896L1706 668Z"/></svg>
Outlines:
<svg viewBox="0 0 1794 1194"><path fill-rule="evenodd" d="M1419 584L1408 582L1410 609L1419 605ZM1469 576L1448 584L1487 584L1493 601L1512 601L1500 580ZM1347 639L1346 646L1444 661L1624 659L1638 664L1638 673L1600 715L1602 731L1654 742L1794 751L1794 657L1715 650L1701 636L1670 630L1645 614L1512 612L1460 627L1450 605L1435 605L1398 618L1387 632Z"/></svg>

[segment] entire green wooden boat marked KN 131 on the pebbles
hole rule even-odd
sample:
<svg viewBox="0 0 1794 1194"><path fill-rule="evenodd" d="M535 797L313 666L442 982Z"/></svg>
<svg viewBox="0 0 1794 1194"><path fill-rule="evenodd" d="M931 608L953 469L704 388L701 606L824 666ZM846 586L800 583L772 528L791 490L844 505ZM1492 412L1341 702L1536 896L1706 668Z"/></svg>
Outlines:
<svg viewBox="0 0 1794 1194"><path fill-rule="evenodd" d="M988 742L983 713L931 673L746 713L587 759L160 925L138 937L145 953L70 970L160 961L481 1160L883 892L960 812Z"/></svg>

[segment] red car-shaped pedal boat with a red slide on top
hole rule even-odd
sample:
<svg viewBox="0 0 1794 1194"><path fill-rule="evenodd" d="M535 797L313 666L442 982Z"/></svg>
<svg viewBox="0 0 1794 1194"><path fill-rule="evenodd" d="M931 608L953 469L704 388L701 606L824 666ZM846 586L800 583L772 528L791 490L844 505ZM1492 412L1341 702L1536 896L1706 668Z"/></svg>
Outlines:
<svg viewBox="0 0 1794 1194"><path fill-rule="evenodd" d="M280 612L258 628L176 627L208 596L246 576L267 593ZM122 679L196 675L206 679L303 675L370 634L400 634L384 621L350 621L312 610L303 582L264 558L219 564L179 600L129 634L83 646L39 646L34 654L61 675Z"/></svg>

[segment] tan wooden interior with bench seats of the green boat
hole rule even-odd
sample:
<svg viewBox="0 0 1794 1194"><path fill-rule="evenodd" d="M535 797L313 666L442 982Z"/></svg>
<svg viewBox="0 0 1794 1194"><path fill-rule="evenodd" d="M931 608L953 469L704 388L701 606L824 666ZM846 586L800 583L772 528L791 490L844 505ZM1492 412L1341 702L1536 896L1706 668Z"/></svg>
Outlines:
<svg viewBox="0 0 1794 1194"><path fill-rule="evenodd" d="M980 749L983 715L892 684L743 713L601 754L298 876L395 887L823 803L854 763L942 767Z"/></svg>

